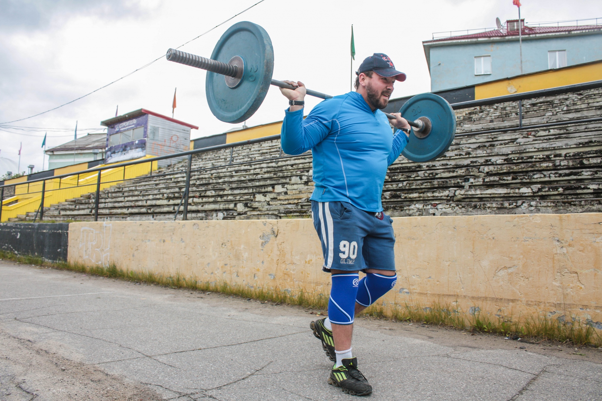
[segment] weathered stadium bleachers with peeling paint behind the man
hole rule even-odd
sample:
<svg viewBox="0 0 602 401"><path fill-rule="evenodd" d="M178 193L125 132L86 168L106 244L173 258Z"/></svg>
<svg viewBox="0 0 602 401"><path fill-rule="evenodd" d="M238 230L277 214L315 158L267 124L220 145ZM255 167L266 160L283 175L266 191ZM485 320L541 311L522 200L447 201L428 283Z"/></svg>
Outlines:
<svg viewBox="0 0 602 401"><path fill-rule="evenodd" d="M383 207L392 216L602 211L602 89L456 110L456 139L436 161L401 156ZM568 120L578 124L530 127ZM503 131L503 129L507 129ZM495 132L489 132L497 130ZM500 131L502 130L502 131ZM101 191L99 219L173 219L186 162ZM193 156L188 219L309 216L311 153L287 156L279 139ZM45 208L45 219L93 219L95 194ZM181 219L181 211L178 219ZM19 216L33 220L34 213Z"/></svg>

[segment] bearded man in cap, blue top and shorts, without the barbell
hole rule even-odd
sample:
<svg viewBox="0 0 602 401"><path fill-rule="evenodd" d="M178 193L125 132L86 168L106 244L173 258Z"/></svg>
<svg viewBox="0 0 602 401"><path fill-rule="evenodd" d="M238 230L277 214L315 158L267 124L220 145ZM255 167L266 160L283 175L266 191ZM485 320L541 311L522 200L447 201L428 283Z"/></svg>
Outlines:
<svg viewBox="0 0 602 401"><path fill-rule="evenodd" d="M366 58L356 73L355 92L315 106L303 119L302 82L281 88L289 99L282 123L282 150L300 155L311 149L314 192L311 212L322 243L323 271L332 278L328 317L311 322L326 355L335 364L328 383L345 393L372 392L352 355L353 318L395 286L393 219L380 197L389 165L408 143L411 127L400 113L388 120L381 109L395 81L406 75L385 54ZM398 130L392 135L389 122ZM358 272L365 272L359 280Z"/></svg>

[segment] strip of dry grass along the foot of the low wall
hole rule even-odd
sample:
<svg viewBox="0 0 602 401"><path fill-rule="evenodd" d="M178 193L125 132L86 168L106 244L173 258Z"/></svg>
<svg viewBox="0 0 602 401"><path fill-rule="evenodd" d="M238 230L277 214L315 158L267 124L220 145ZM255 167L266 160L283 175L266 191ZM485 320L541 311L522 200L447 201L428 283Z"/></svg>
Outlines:
<svg viewBox="0 0 602 401"><path fill-rule="evenodd" d="M275 304L300 305L306 308L326 310L328 298L321 294L309 293L305 289L299 289L298 295L290 291L265 289L258 287L243 286L241 284L229 284L226 281L199 281L194 277L184 277L179 273L170 276L157 275L153 272L135 272L110 266L93 266L72 264L67 262L48 262L42 257L31 255L16 255L0 250L0 260L12 260L27 265L45 266L55 269L70 270L87 274L94 274L107 278L119 278L121 280L135 281L137 283L155 284L173 289L190 289L203 292L219 292L225 295L235 295L241 298L258 299L259 301L271 301ZM509 317L491 317L489 314L481 313L479 308L470 308L469 313L458 311L450 304L433 302L428 307L421 305L383 305L373 304L366 308L362 314L376 318L392 319L399 322L419 322L429 325L440 325L458 328L471 332L483 332L500 334L507 337L518 335L522 338L532 340L554 340L574 345L602 346L600 332L594 327L583 323L580 319L556 317L551 319L547 316L519 316L517 319Z"/></svg>

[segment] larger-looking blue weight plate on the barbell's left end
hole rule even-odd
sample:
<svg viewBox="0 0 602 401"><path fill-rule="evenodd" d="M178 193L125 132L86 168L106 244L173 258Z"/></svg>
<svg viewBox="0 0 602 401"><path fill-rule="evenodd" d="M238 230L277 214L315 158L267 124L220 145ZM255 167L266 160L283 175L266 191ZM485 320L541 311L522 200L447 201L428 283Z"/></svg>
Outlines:
<svg viewBox="0 0 602 401"><path fill-rule="evenodd" d="M244 60L244 75L235 88L223 75L207 72L205 93L213 115L226 123L240 123L261 106L274 69L272 40L265 29L243 21L232 25L217 41L211 58L228 63L234 56Z"/></svg>

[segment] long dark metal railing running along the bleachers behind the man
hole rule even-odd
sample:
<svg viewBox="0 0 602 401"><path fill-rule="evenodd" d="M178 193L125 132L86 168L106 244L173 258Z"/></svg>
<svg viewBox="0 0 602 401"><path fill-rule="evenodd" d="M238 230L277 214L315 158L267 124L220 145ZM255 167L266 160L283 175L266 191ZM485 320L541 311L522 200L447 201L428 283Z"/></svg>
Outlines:
<svg viewBox="0 0 602 401"><path fill-rule="evenodd" d="M494 132L509 132L512 130L536 129L536 128L543 128L543 127L565 126L565 125L571 125L571 124L588 124L588 123L593 123L593 122L597 122L597 121L602 121L602 117L592 117L592 118L581 118L581 119L573 119L573 120L565 120L565 121L553 121L550 123L535 124L535 125L523 125L522 100L533 99L536 97L552 96L552 95L556 95L556 94L571 93L571 92L577 92L577 91L583 91L583 90L595 89L595 88L602 88L602 80L585 82L583 84L566 85L563 87L548 88L548 89L542 89L542 90L536 90L536 91L530 91L530 92L524 92L524 93L515 93L515 94L509 94L506 96L490 97L488 99L479 99L479 100L470 100L468 102L452 103L453 109L465 109L465 108L471 108L471 107L476 107L476 106L492 105L495 103L506 103L506 102L517 102L518 101L518 125L517 126L505 127L505 128L500 128L500 129L492 129L492 130L462 132L462 133L456 134L456 136L478 135L478 134L494 133ZM261 142L274 141L279 138L280 138L279 134L264 136L262 138L248 139L247 141L233 142L230 144L222 144L222 145L215 145L215 146L205 147L205 148L200 148L200 149L187 150L185 152L172 153L171 155L157 156L155 158L138 159L135 161L123 162L120 164L113 164L113 165L107 165L107 166L102 166L102 167L90 168L88 170L76 171L75 173L60 174L58 176L45 177L45 178L31 180L28 182L19 182L19 183L0 185L0 200L2 200L2 202L4 201L4 189L5 188L16 187L17 185L25 185L25 183L28 185L28 188L29 188L29 184L31 184L31 183L42 182L42 190L41 191L28 192L28 194L38 194L38 193L41 194L40 206L39 206L39 209L37 209L36 216L34 217L34 221L37 219L38 214L39 214L40 221L42 221L43 216L44 216L44 206L43 205L44 205L45 195L48 194L48 192L59 191L61 189L60 183L61 183L62 179L67 178L67 177L76 176L77 183L79 184L79 176L81 174L89 174L89 173L94 173L94 172L98 171L98 177L96 179L96 183L87 183L87 184L81 185L82 187L95 186L95 204L94 204L94 209L93 209L93 215L94 215L94 221L98 221L98 209L99 209L101 185L106 185L106 184L110 184L110 183L126 182L126 181L130 181L130 180L156 179L157 177L174 176L176 174L185 173L184 192L182 192L182 196L181 196L179 205L176 209L174 220L178 217L179 211L182 208L182 206L184 207L184 209L182 210L182 219L187 220L187 218L188 218L188 198L189 198L189 193L190 193L190 180L191 180L192 173L197 173L200 171L208 171L208 170L213 170L213 169L218 169L218 168L223 168L223 167L228 167L228 166L252 165L252 164L256 164L256 163L264 163L267 161L277 161L279 159L303 158L303 157L307 156L306 153L303 153L302 155L292 155L292 156L291 155L283 155L282 149L281 149L279 155L276 157L263 158L263 159L258 159L255 161L244 161L244 162L238 162L238 163L233 162L234 148L241 147L244 145L257 144L257 143L261 143ZM231 150L231 152L229 155L229 161L226 164L213 165L210 167L202 167L202 168L197 168L194 170L192 169L192 156L193 155L200 155L202 153L214 152L216 150L223 150L223 149L228 149L228 148ZM152 173L153 162L158 162L158 161L165 160L165 159L181 158L182 156L187 157L187 165L186 165L185 170L168 171L166 173L159 173L159 174ZM147 176L132 177L129 179L125 178L125 168L126 167L131 166L131 165L144 164L144 163L148 163L150 165L149 174ZM113 170L116 168L123 168L123 178L119 179L119 180L111 180L111 181L102 182L102 171ZM59 188L46 189L46 181L57 180L57 179L59 180ZM90 193L92 193L92 191L88 192L88 194L90 194ZM1 218L2 218L2 207L0 207L0 219Z"/></svg>

